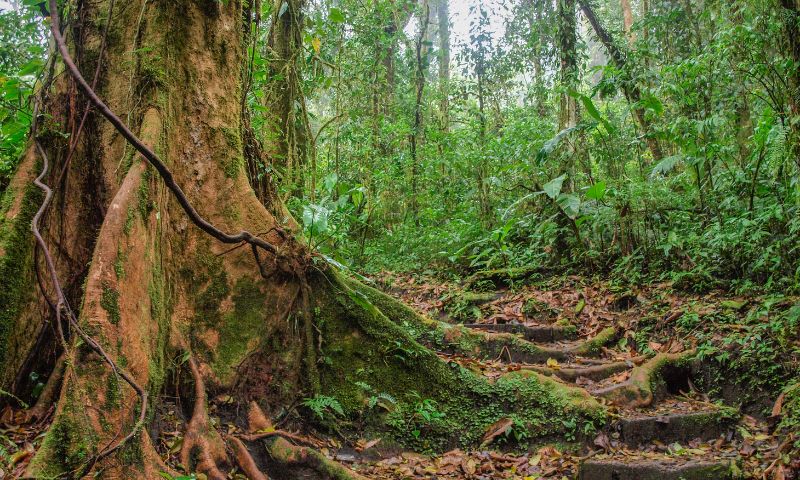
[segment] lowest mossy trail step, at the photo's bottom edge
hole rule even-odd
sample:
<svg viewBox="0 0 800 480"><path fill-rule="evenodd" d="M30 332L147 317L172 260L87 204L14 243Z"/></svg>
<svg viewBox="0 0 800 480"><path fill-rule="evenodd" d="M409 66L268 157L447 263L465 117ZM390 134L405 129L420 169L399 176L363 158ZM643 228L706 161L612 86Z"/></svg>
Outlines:
<svg viewBox="0 0 800 480"><path fill-rule="evenodd" d="M581 463L579 480L734 480L730 460L648 456L592 458Z"/></svg>

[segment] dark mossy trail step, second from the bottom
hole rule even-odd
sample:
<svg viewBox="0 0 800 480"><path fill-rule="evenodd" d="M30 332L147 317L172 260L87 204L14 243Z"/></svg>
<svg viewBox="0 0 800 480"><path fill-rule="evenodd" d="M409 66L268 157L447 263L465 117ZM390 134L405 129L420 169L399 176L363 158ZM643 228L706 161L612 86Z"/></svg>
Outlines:
<svg viewBox="0 0 800 480"><path fill-rule="evenodd" d="M709 409L687 413L641 415L622 418L613 428L622 443L639 447L658 440L686 444L691 440L713 440L727 433L736 419L725 410Z"/></svg>

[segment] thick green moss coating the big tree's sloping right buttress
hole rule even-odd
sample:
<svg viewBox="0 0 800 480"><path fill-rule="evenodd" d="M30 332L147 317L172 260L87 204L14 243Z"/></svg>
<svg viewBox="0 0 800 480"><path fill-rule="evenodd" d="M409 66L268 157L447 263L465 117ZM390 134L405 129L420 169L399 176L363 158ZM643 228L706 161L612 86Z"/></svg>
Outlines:
<svg viewBox="0 0 800 480"><path fill-rule="evenodd" d="M417 341L437 330L438 322L355 281L326 274L312 285L324 346L322 394L336 398L346 415L366 418L371 433L388 434L415 450L442 451L453 441L477 446L486 429L504 417L513 416L516 433L509 441L520 446L563 433L565 425L605 422L604 408L585 392L553 380L519 375L490 384L442 361ZM379 394L395 399L389 412L370 407L369 398Z"/></svg>

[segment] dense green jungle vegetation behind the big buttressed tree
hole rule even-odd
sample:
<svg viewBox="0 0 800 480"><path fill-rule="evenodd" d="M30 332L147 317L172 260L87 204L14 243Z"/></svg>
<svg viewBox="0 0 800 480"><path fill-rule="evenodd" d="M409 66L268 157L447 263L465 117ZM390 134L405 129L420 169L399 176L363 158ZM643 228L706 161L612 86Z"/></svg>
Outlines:
<svg viewBox="0 0 800 480"><path fill-rule="evenodd" d="M266 169L315 246L363 271L552 267L796 291L791 8L521 0L459 3L454 20L402 3L314 2L280 47L290 61L269 29L251 48L255 131L293 132ZM37 12L2 12L0 185L45 60ZM267 113L280 101L286 124Z"/></svg>

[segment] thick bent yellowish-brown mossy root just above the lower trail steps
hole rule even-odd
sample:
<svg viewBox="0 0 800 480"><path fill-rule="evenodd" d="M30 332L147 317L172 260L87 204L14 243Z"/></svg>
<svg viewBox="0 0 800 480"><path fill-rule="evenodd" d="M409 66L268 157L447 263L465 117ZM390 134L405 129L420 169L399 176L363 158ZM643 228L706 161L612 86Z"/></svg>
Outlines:
<svg viewBox="0 0 800 480"><path fill-rule="evenodd" d="M662 378L664 368L681 366L694 355L693 351L671 354L659 353L631 371L630 378L623 383L593 392L611 405L629 408L647 407L653 403L656 386Z"/></svg>

